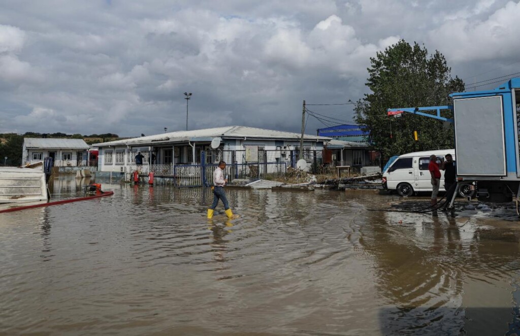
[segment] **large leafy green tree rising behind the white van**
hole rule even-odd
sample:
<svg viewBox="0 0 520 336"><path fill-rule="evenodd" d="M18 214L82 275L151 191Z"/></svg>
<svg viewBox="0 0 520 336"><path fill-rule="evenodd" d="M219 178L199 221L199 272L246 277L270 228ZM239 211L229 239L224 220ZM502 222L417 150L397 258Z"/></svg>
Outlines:
<svg viewBox="0 0 520 336"><path fill-rule="evenodd" d="M368 136L374 149L381 152L383 164L398 154L453 148L453 127L433 118L402 113L401 118L387 116L388 108L450 105L452 92L463 92L464 82L452 78L443 54L428 55L417 42L404 40L370 58L366 85L370 94L355 104L355 120ZM426 112L427 113L427 112ZM452 118L452 111L443 111ZM413 131L419 134L414 141Z"/></svg>

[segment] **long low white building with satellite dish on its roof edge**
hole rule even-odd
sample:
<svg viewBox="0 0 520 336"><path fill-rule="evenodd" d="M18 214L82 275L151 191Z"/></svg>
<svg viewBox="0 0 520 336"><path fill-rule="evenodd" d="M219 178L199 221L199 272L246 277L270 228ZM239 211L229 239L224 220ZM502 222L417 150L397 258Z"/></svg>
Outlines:
<svg viewBox="0 0 520 336"><path fill-rule="evenodd" d="M220 145L211 148L213 139L219 138ZM135 167L138 152L145 157L144 165L150 164L153 154L157 165L201 163L201 153L205 153L204 163L215 163L224 159L228 163L248 163L264 156L265 162L291 162L291 152L300 147L301 134L265 130L246 126L225 126L203 130L178 131L138 138L95 144L99 148L98 171L129 172ZM310 162L310 153L323 149L330 138L304 135L304 158ZM218 154L218 153L224 153ZM260 153L260 154L259 154ZM292 158L294 159L294 158Z"/></svg>

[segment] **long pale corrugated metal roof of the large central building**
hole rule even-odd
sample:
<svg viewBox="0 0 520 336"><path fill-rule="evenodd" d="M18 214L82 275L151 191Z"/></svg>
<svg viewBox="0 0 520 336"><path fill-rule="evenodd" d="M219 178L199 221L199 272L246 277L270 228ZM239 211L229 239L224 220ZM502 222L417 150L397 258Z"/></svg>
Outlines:
<svg viewBox="0 0 520 336"><path fill-rule="evenodd" d="M203 130L193 131L177 131L171 133L163 133L157 135L142 136L125 140L109 141L107 143L95 144L96 147L116 146L116 145L139 145L153 143L178 143L185 142L192 138L201 137L222 137L222 138L248 138L248 139L281 139L281 140L300 140L301 134L282 132L274 130L265 130L264 128L246 127L246 126L226 126L216 128L205 128ZM304 135L305 140L313 141L329 141L331 138Z"/></svg>

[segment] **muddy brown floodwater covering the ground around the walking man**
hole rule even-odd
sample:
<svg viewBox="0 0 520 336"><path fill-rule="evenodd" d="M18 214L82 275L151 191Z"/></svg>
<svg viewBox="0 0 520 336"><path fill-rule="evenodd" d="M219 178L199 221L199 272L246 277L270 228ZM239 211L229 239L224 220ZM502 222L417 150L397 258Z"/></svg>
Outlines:
<svg viewBox="0 0 520 336"><path fill-rule="evenodd" d="M61 177L53 198L82 196ZM516 334L520 230L371 211L374 191L103 184L112 197L0 214L0 334ZM218 208L222 209L222 204ZM519 226L520 227L520 226Z"/></svg>

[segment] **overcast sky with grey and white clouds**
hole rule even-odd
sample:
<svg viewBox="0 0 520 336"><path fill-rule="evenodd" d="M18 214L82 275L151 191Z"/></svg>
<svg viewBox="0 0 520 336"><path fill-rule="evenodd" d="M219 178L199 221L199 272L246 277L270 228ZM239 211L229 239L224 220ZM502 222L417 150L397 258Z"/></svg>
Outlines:
<svg viewBox="0 0 520 336"><path fill-rule="evenodd" d="M184 92L190 129L298 132L303 99L359 99L369 58L399 38L466 84L520 72L518 18L505 0L3 0L0 133L184 130Z"/></svg>

